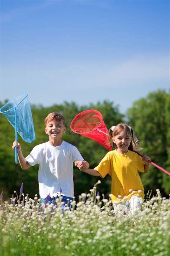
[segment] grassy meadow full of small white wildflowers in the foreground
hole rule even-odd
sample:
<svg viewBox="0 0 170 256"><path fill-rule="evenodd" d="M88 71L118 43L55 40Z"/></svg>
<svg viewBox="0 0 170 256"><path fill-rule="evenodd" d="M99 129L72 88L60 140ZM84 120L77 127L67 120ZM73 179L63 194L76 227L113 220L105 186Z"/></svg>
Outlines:
<svg viewBox="0 0 170 256"><path fill-rule="evenodd" d="M1 197L0 255L169 256L170 200L157 189L132 216L123 200L114 211L110 198L96 193L98 183L64 211L61 197L55 205L41 205L37 195L15 194L10 203Z"/></svg>

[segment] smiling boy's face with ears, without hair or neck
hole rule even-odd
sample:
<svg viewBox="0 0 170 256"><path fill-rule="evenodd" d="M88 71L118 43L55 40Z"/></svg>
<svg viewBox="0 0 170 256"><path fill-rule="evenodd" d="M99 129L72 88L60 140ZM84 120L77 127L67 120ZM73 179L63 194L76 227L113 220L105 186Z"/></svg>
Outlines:
<svg viewBox="0 0 170 256"><path fill-rule="evenodd" d="M60 120L49 120L45 128L46 134L49 135L49 139L60 139L62 134L66 131L66 127Z"/></svg>

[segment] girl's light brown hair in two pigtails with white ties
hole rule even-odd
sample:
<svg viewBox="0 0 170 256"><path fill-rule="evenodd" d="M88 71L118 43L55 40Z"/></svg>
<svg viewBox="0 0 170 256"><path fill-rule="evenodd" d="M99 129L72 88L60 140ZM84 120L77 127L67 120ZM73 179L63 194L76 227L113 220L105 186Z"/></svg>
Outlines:
<svg viewBox="0 0 170 256"><path fill-rule="evenodd" d="M138 146L139 141L138 139L135 137L133 129L126 125L126 124L118 124L115 126L114 130L112 131L112 127L109 129L109 136L107 139L107 144L110 142L111 146L114 149L117 149L117 145L113 142L112 138L117 136L118 134L121 133L121 131L126 131L126 134L132 137L131 143L128 147L129 150L133 151L134 149L136 150L141 150L142 148L140 146Z"/></svg>

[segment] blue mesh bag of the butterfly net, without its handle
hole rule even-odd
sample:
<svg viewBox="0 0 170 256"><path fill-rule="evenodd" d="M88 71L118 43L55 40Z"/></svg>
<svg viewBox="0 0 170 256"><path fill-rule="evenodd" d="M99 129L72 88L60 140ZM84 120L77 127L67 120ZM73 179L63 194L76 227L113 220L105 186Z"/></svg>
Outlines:
<svg viewBox="0 0 170 256"><path fill-rule="evenodd" d="M14 128L16 118L16 131L24 141L31 143L36 139L36 135L34 132L32 112L27 96L28 94L25 93L12 99L0 108L0 112L6 116Z"/></svg>

